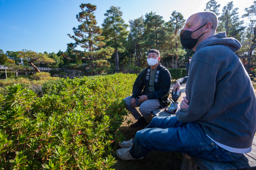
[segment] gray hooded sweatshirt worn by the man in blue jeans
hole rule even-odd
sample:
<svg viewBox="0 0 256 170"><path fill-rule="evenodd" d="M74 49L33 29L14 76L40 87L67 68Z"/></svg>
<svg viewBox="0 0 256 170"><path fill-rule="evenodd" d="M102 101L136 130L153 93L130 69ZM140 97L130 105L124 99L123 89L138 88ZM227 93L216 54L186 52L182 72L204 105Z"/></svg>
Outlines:
<svg viewBox="0 0 256 170"><path fill-rule="evenodd" d="M215 141L250 148L256 131L256 97L249 75L234 53L241 44L220 32L202 41L192 57L186 84L187 109L180 122L197 122Z"/></svg>

